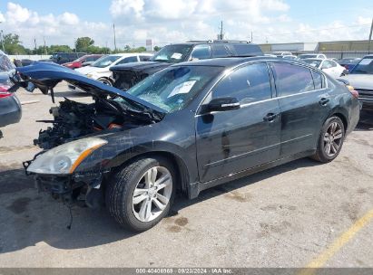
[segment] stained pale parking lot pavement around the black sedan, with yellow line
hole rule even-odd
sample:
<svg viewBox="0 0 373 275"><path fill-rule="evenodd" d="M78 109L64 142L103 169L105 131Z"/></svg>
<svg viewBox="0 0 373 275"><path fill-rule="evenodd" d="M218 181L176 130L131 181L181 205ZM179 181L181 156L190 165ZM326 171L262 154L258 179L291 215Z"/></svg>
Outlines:
<svg viewBox="0 0 373 275"><path fill-rule="evenodd" d="M88 100L66 90L56 101ZM373 267L373 113L329 164L300 159L177 197L162 223L131 233L104 209L79 207L66 228L67 207L38 194L21 164L39 151L46 125L35 120L51 118L51 98L18 97L30 104L0 139L0 267Z"/></svg>

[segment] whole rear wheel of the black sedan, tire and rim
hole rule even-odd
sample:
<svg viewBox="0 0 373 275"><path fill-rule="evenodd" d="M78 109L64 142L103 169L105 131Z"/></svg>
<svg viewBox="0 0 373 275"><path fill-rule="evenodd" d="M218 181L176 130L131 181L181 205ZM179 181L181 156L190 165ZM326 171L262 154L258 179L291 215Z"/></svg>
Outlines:
<svg viewBox="0 0 373 275"><path fill-rule="evenodd" d="M345 127L339 117L327 119L321 128L318 148L313 159L327 163L339 155L345 138Z"/></svg>

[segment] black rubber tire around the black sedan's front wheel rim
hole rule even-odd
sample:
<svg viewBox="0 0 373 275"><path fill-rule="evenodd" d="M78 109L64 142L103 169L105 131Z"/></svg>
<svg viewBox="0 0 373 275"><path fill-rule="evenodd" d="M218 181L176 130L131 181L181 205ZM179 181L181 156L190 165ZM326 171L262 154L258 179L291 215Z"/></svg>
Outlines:
<svg viewBox="0 0 373 275"><path fill-rule="evenodd" d="M142 175L155 166L167 168L172 175L172 194L169 203L158 217L150 222L142 222L133 213L133 192L142 179ZM172 163L164 157L156 156L133 160L133 162L124 166L122 170L116 172L106 186L105 203L109 213L117 223L127 230L143 232L152 228L170 211L176 189L175 175Z"/></svg>

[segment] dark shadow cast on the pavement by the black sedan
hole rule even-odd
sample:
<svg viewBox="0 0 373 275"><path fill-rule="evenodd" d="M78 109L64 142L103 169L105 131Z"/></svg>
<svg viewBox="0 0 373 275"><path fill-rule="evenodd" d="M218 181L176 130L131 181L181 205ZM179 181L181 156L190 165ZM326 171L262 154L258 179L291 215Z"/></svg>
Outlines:
<svg viewBox="0 0 373 275"><path fill-rule="evenodd" d="M172 206L171 215L177 215L181 209L191 204L201 203L244 185L255 184L274 175L315 165L318 163L307 158L299 159L203 191L192 201L178 195ZM74 222L71 230L68 230L66 226L70 214L67 206L54 201L48 194L38 194L34 189L33 178L26 176L23 169L0 172L0 197L0 224L3 225L0 231L0 253L19 251L38 242L46 242L58 249L74 250L121 241L136 234L123 230L105 209L95 211L78 206L73 208ZM147 233L151 232L141 234Z"/></svg>

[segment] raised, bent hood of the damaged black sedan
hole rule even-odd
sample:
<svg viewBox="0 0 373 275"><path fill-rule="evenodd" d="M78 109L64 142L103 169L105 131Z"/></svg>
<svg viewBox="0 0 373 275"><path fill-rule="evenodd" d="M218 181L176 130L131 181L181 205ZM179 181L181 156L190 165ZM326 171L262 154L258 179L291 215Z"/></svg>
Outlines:
<svg viewBox="0 0 373 275"><path fill-rule="evenodd" d="M130 100L137 103L145 109L152 109L159 113L165 112L163 109L153 105L152 103L141 100L123 90L105 85L99 81L93 81L79 72L58 64L34 62L29 66L16 68L16 71L19 71L23 76L27 77L26 81L34 83L37 88L47 87L48 89L52 89L60 81L67 81L95 97L103 98L104 95L118 96L124 100Z"/></svg>

